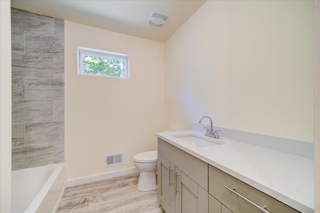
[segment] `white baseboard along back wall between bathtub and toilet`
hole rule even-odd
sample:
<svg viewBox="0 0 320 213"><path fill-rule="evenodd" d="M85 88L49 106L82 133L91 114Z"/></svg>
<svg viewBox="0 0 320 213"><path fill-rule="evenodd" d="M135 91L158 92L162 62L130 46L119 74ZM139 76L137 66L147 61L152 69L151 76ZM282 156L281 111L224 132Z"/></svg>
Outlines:
<svg viewBox="0 0 320 213"><path fill-rule="evenodd" d="M93 175L88 175L88 176L83 176L83 177L77 177L73 179L67 179L66 180L66 187L74 186L74 185L80 185L84 183L89 183L89 182L95 182L103 179L109 179L112 177L118 177L126 174L132 174L139 172L139 170L136 167L130 167L130 168L123 168L120 170L116 171L108 171L104 173L99 173L99 174L93 174Z"/></svg>

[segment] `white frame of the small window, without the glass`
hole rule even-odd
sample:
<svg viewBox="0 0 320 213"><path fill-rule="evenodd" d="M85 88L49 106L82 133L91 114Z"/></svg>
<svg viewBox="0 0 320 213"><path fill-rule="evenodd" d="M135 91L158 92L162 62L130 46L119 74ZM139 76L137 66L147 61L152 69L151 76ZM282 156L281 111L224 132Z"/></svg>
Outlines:
<svg viewBox="0 0 320 213"><path fill-rule="evenodd" d="M78 53L78 74L129 79L129 55L128 54L109 52L109 51L104 51L104 50L99 50L99 49L91 49L91 48L86 48L86 47L81 47L81 46L77 47L77 53ZM83 72L83 57L84 57L84 55L104 57L104 58L107 57L107 58L116 59L116 60L124 60L124 77L84 73Z"/></svg>

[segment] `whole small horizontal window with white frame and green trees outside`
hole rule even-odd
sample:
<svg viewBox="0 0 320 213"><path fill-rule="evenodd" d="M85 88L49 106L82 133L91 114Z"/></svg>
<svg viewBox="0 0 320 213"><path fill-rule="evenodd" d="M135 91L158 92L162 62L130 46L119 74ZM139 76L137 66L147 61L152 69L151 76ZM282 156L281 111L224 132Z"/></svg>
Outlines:
<svg viewBox="0 0 320 213"><path fill-rule="evenodd" d="M78 74L129 79L129 55L78 46Z"/></svg>

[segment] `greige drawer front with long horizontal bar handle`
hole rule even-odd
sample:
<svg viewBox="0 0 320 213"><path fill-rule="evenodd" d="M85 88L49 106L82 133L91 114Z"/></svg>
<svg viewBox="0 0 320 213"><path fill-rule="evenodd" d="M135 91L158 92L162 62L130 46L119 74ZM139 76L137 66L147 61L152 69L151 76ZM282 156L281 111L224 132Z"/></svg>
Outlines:
<svg viewBox="0 0 320 213"><path fill-rule="evenodd" d="M270 197L269 195L253 188L252 186L234 178L233 176L209 165L209 194L225 205L232 212L249 213L261 212L257 207L240 198L240 196L229 191L229 188L235 188L235 191L257 205L265 205L266 210L275 212L299 212L288 205Z"/></svg>

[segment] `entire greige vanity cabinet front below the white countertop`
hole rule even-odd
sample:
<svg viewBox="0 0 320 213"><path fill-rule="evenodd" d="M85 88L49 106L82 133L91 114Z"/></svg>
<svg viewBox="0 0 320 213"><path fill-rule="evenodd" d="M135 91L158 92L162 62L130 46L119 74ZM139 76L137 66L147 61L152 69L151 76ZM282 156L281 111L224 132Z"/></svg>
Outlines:
<svg viewBox="0 0 320 213"><path fill-rule="evenodd" d="M160 138L157 187L166 213L299 212Z"/></svg>

